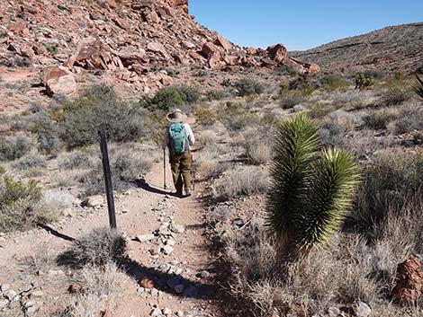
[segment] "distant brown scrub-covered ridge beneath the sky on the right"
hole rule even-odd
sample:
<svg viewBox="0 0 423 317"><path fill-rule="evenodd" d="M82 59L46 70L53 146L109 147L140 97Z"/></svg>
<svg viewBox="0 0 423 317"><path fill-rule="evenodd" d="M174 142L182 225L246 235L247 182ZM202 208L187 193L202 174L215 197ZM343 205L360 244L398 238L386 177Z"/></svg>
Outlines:
<svg viewBox="0 0 423 317"><path fill-rule="evenodd" d="M323 71L410 74L423 68L423 22L389 26L289 56L317 63Z"/></svg>

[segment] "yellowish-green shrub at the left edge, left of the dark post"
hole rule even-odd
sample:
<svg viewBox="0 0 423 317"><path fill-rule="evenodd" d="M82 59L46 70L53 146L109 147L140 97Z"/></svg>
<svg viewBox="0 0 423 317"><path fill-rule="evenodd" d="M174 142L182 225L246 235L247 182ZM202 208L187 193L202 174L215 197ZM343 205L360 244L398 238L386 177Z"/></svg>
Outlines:
<svg viewBox="0 0 423 317"><path fill-rule="evenodd" d="M0 231L27 230L57 219L57 210L41 203L35 181L23 183L4 176L0 181Z"/></svg>

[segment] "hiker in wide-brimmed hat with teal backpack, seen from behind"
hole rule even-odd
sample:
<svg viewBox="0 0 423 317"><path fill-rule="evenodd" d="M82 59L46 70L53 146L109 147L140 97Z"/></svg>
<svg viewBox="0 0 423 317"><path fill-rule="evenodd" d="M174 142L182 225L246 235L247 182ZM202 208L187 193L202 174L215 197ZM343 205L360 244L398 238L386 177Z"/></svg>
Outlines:
<svg viewBox="0 0 423 317"><path fill-rule="evenodd" d="M183 189L185 189L185 195L188 197L192 195L191 146L195 142L193 130L188 123L184 122L186 115L182 110L175 109L169 112L166 118L170 124L166 127L163 147L167 146L169 149L169 161L176 195L183 197Z"/></svg>

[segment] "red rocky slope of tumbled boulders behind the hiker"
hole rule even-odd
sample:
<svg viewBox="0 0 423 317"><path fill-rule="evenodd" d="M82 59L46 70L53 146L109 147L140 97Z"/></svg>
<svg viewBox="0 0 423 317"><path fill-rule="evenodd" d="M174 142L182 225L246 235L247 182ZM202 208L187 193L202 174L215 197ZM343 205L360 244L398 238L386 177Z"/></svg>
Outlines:
<svg viewBox="0 0 423 317"><path fill-rule="evenodd" d="M299 73L319 70L287 57L282 44L256 49L230 43L193 21L187 0L7 1L0 12L8 13L0 20L5 30L0 37L2 64L14 65L21 58L40 69L67 66L73 74L94 72L141 92L172 84L171 77L157 71L166 67L233 71L292 64ZM56 78L48 91L62 93L58 87L66 87L66 94L73 93L71 78Z"/></svg>

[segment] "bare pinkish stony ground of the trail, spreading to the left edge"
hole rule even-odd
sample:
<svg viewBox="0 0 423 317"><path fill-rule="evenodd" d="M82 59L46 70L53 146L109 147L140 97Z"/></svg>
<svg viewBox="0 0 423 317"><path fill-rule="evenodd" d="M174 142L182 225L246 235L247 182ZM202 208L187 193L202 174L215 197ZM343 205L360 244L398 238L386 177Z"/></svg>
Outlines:
<svg viewBox="0 0 423 317"><path fill-rule="evenodd" d="M162 189L162 172L157 163L139 188L116 198L118 227L129 242L130 278L113 315L228 315L198 200L202 188L191 198L175 198ZM72 270L55 264L55 257L73 239L108 222L102 197L90 198L88 205L74 206L56 225L1 237L2 314L19 303L26 316L49 315L66 303Z"/></svg>

